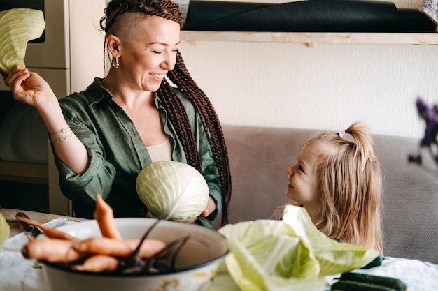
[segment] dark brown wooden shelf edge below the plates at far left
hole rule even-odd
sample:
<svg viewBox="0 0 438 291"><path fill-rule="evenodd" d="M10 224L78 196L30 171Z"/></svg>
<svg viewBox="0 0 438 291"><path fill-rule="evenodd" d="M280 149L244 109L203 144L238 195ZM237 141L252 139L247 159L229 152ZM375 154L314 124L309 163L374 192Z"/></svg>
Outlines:
<svg viewBox="0 0 438 291"><path fill-rule="evenodd" d="M48 165L0 161L0 180L48 184Z"/></svg>

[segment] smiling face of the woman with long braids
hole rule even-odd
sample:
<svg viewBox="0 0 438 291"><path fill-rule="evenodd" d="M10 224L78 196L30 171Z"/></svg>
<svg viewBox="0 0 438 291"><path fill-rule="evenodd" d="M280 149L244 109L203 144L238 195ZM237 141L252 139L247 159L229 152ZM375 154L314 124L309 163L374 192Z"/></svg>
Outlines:
<svg viewBox="0 0 438 291"><path fill-rule="evenodd" d="M130 14L130 15L128 15ZM155 92L164 76L173 70L180 43L177 22L157 16L126 13L131 19L120 33L120 75L134 90ZM123 35L122 35L123 33Z"/></svg>

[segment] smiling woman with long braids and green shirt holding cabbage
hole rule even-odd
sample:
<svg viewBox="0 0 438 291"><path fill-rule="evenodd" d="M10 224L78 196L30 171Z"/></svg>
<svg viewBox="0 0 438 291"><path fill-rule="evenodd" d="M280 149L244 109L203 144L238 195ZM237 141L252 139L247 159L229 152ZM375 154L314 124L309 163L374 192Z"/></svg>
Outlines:
<svg viewBox="0 0 438 291"><path fill-rule="evenodd" d="M197 223L227 223L231 179L220 122L178 52L181 10L170 0L113 0L101 28L112 66L85 91L57 100L36 73L6 77L14 98L36 107L48 128L62 192L92 218L100 193L116 217L143 216L137 174L153 161L197 168L210 197ZM173 85L165 79L169 78ZM178 88L176 88L176 87Z"/></svg>

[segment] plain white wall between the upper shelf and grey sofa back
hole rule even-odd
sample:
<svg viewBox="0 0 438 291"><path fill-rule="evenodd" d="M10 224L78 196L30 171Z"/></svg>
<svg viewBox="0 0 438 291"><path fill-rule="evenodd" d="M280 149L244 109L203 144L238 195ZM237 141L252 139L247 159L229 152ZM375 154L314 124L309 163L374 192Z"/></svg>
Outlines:
<svg viewBox="0 0 438 291"><path fill-rule="evenodd" d="M419 8L422 0L396 0ZM438 103L438 46L181 43L223 124L345 129L422 137L416 96Z"/></svg>

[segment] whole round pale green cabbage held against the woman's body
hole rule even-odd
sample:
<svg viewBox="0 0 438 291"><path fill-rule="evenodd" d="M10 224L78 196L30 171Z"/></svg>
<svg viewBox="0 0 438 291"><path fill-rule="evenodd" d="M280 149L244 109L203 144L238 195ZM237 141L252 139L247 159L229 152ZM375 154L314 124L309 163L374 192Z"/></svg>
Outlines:
<svg viewBox="0 0 438 291"><path fill-rule="evenodd" d="M176 161L146 166L136 179L140 200L150 216L190 223L206 208L209 186L194 167Z"/></svg>

